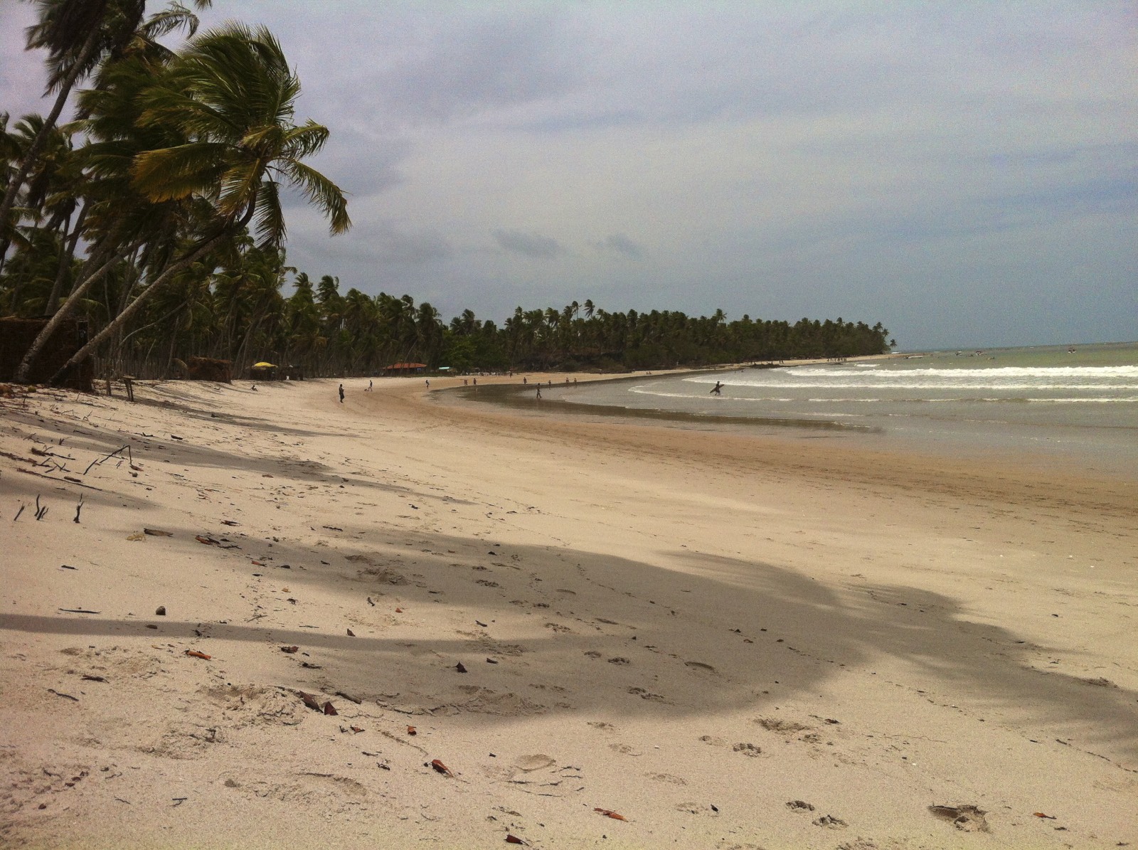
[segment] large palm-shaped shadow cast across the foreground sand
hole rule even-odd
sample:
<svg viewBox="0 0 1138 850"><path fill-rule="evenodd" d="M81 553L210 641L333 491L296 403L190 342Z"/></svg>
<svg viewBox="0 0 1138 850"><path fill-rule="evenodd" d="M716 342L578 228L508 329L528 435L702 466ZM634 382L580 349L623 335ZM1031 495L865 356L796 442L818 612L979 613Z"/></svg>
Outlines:
<svg viewBox="0 0 1138 850"><path fill-rule="evenodd" d="M197 545L193 530L175 534L168 545ZM1029 655L1040 647L970 621L939 594L881 585L835 591L783 567L690 552L645 563L562 547L407 537L404 545L382 544L345 533L319 548L281 542L273 563L288 563L288 570L226 555L233 560L225 564L254 586L287 579L299 600L291 604L287 594L266 592L248 622L0 614L0 629L84 639L160 635L222 659L224 642L257 642L266 644L272 663L283 658L275 644L296 644L302 653L286 659L296 662L290 686L344 688L409 713L488 718L764 711L809 700L831 677L871 675L899 660L906 667L891 669L907 672L896 676L946 701L967 702L997 721L1004 715L1050 728L1053 736L1069 724L1095 728L1094 741L1082 744L1105 748L1114 754L1104 758L1127 769L1138 767L1135 693L1032 669ZM358 636L347 636L343 626L333 634L327 620L320 622L328 605L323 613L306 606L306 591L318 585L341 600L335 617ZM437 637L438 626L430 628L436 637L414 635L421 618L439 616L450 636ZM302 668L302 660L319 669ZM457 662L468 675L456 675Z"/></svg>

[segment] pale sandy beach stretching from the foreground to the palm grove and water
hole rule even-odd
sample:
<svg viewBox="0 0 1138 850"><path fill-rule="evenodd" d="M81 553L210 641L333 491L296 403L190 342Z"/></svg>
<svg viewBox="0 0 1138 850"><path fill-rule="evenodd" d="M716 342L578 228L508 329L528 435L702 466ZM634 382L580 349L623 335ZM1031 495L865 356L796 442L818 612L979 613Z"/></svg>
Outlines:
<svg viewBox="0 0 1138 850"><path fill-rule="evenodd" d="M0 398L0 845L1138 845L1138 482L337 383Z"/></svg>

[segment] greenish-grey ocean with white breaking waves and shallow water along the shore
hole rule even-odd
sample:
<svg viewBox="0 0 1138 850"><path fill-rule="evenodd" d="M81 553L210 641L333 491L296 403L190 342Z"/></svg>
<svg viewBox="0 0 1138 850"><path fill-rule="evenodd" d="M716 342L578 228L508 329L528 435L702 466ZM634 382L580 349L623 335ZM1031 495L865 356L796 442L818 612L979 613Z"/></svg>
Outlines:
<svg viewBox="0 0 1138 850"><path fill-rule="evenodd" d="M719 395L710 393L717 381ZM480 398L535 413L648 416L681 428L885 449L1033 455L1045 464L1138 479L1138 343L787 362L554 383L542 393L541 403L533 387Z"/></svg>

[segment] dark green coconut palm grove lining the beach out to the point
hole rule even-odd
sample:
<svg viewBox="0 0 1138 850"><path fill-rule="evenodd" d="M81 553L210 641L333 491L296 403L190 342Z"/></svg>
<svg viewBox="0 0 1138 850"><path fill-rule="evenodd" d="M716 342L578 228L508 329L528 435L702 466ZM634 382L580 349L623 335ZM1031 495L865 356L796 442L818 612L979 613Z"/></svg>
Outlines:
<svg viewBox="0 0 1138 850"><path fill-rule="evenodd" d="M72 317L91 331L72 364L98 354L100 372L140 377L191 356L232 360L237 374L269 360L343 376L397 362L618 371L888 350L880 324L607 313L589 300L519 307L501 328L468 310L447 325L406 295L313 283L287 265L282 188L333 234L351 221L340 189L304 163L328 130L295 123L300 84L272 34L228 24L199 35L178 2L149 17L145 0L36 6L27 44L48 53L52 110L0 113L0 316L50 317L22 378ZM179 50L158 41L173 32L189 36ZM76 118L58 125L75 91Z"/></svg>

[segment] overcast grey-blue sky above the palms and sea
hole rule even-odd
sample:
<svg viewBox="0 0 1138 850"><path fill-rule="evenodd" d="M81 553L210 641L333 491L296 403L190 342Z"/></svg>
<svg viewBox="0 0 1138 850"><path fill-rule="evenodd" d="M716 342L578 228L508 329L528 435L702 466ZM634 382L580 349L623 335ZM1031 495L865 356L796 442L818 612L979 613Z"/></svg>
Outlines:
<svg viewBox="0 0 1138 850"><path fill-rule="evenodd" d="M151 10L159 8L149 3ZM0 0L0 110L38 102ZM881 321L902 349L1138 339L1130 0L214 0L296 65L340 289Z"/></svg>

